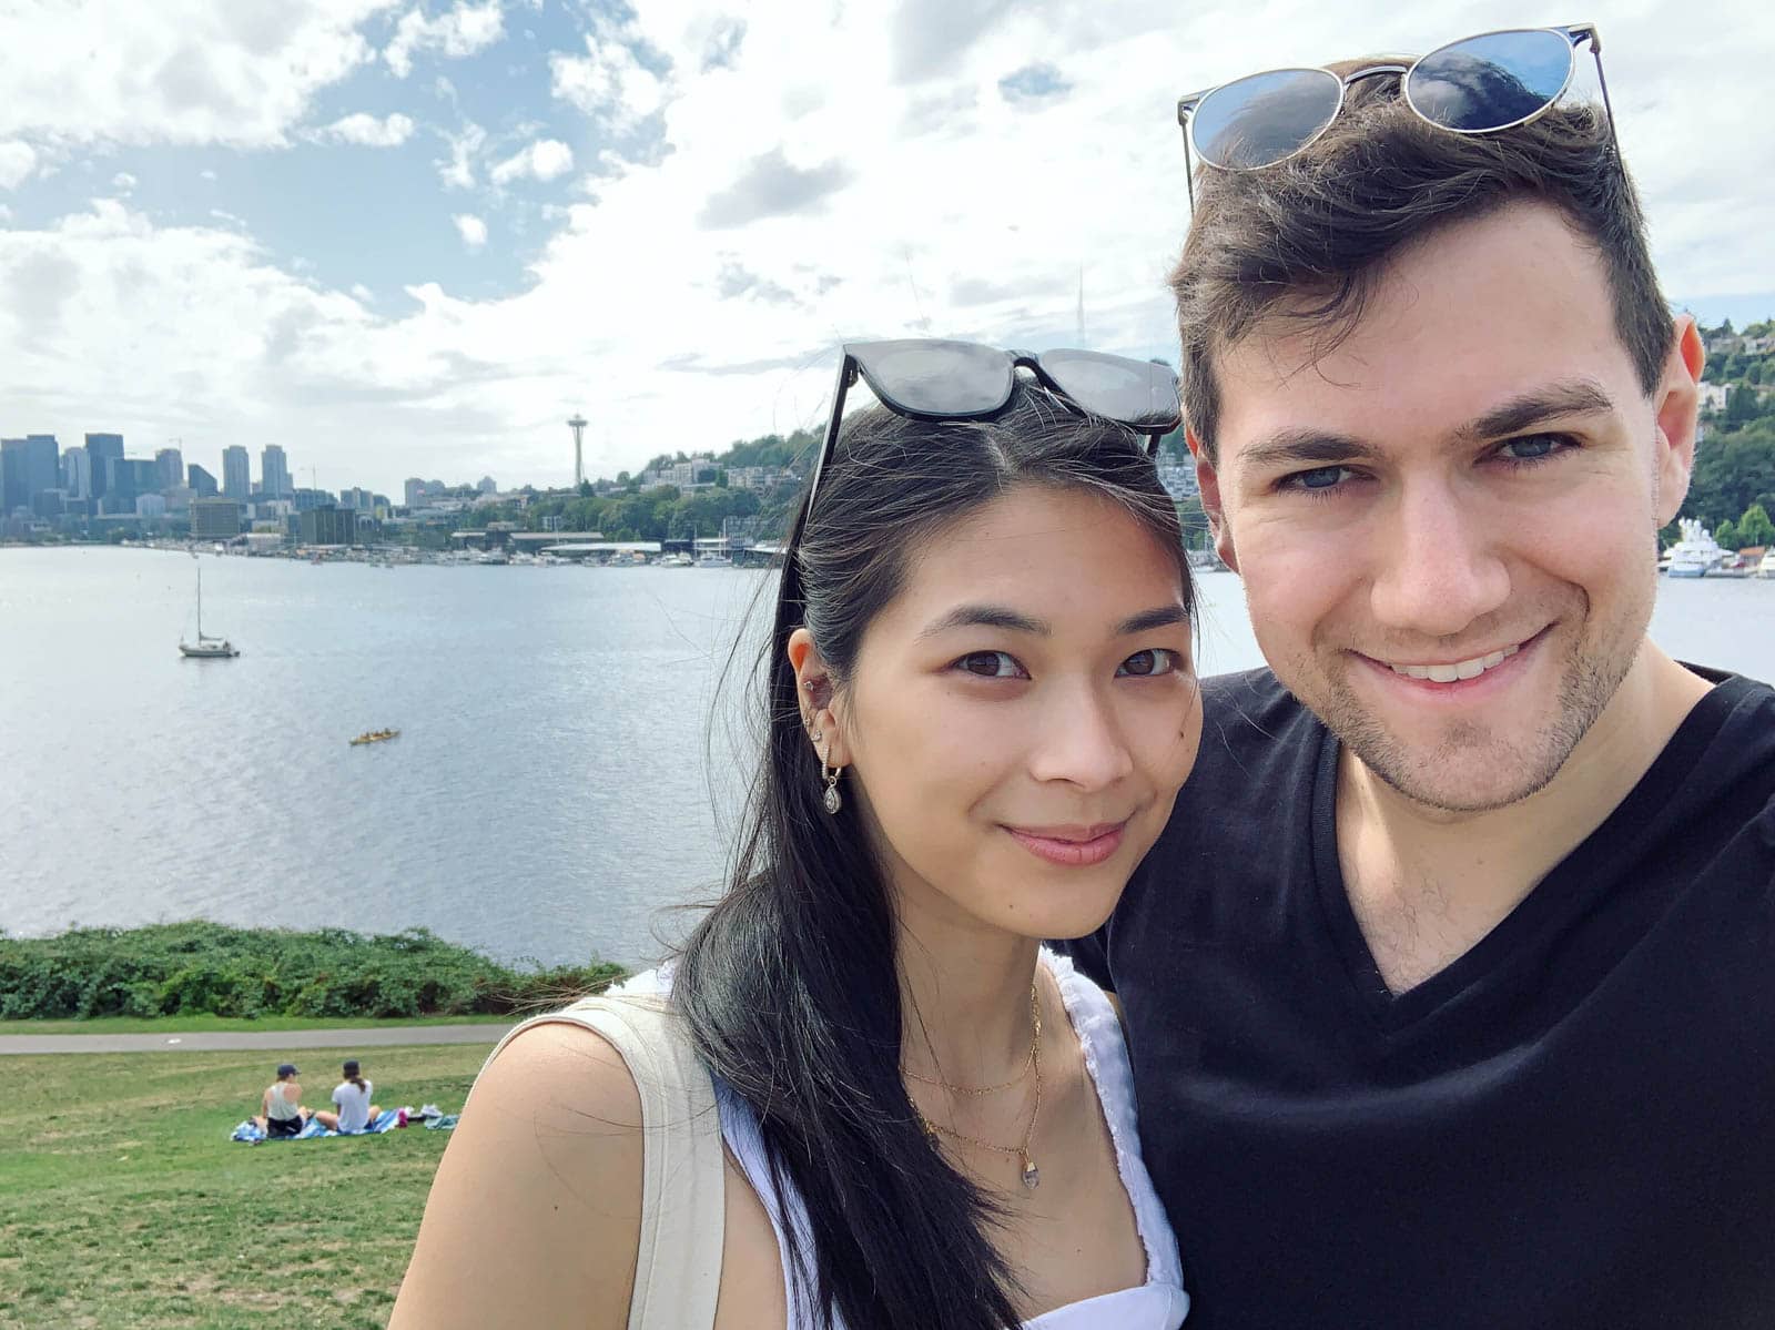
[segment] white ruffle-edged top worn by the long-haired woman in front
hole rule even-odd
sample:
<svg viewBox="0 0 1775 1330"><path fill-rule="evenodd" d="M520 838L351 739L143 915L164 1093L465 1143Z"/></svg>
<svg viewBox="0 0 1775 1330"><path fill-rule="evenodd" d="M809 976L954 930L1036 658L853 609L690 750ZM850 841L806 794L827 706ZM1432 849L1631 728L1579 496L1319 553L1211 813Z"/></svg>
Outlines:
<svg viewBox="0 0 1775 1330"><path fill-rule="evenodd" d="M1170 1220L1164 1218L1164 1207L1152 1190L1152 1177L1147 1176L1147 1165L1140 1156L1140 1131L1134 1124L1134 1073L1129 1067L1127 1046L1122 1042L1122 1023L1116 1021L1115 1009L1102 989L1077 973L1070 959L1044 950L1042 964L1047 966L1060 989L1067 1017L1072 1021L1079 1048L1085 1051L1085 1069L1090 1073L1104 1120L1109 1124L1116 1170L1122 1174L1122 1186L1134 1207L1140 1241L1147 1248L1147 1282L1054 1307L1033 1321L1024 1321L1024 1330L1177 1330L1189 1310L1189 1294L1184 1293L1177 1238L1172 1236ZM792 1243L804 1252L811 1254L813 1250L808 1234L808 1211L797 1193L777 1190L770 1177L758 1119L721 1078L715 1078L715 1104L721 1110L721 1135L770 1215L783 1270L793 1270ZM820 1321L808 1289L799 1287L797 1280L788 1279L786 1273L785 1287L788 1293L786 1330L818 1330ZM832 1330L843 1330L836 1314Z"/></svg>

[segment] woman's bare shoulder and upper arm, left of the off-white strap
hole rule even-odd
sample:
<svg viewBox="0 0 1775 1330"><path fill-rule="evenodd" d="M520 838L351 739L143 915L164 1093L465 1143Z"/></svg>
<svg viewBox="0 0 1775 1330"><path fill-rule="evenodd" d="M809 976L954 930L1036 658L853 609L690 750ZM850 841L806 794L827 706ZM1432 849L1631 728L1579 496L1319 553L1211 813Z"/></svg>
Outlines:
<svg viewBox="0 0 1775 1330"><path fill-rule="evenodd" d="M390 1326L628 1321L641 1232L641 1096L582 1025L522 1030L476 1081Z"/></svg>

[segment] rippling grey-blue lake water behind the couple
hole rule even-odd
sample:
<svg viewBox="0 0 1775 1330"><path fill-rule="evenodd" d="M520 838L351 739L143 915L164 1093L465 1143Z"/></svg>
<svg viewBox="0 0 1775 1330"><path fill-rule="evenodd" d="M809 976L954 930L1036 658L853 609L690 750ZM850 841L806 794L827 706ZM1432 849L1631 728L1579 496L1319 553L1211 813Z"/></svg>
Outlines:
<svg viewBox="0 0 1775 1330"><path fill-rule="evenodd" d="M770 574L204 556L204 625L243 653L183 661L197 566L0 550L0 929L424 925L637 962L712 893L751 769L715 685ZM1239 581L1200 586L1203 669L1260 664ZM1775 582L1668 582L1653 636L1770 678Z"/></svg>

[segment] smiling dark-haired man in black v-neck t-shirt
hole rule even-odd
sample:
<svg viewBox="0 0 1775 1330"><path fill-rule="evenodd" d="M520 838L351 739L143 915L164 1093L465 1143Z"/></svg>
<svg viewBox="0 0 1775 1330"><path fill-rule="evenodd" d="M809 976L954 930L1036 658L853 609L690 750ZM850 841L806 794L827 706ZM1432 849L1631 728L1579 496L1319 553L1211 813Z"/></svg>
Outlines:
<svg viewBox="0 0 1775 1330"><path fill-rule="evenodd" d="M1452 133L1400 67L1196 178L1189 446L1269 669L1074 954L1195 1330L1770 1326L1775 693L1645 637L1700 343L1599 110Z"/></svg>

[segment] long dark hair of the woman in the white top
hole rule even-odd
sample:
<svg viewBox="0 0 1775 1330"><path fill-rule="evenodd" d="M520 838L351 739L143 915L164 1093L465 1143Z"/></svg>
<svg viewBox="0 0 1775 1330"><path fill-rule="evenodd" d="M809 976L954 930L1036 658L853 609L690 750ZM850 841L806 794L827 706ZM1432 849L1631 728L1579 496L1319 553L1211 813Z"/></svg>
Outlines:
<svg viewBox="0 0 1775 1330"><path fill-rule="evenodd" d="M698 1053L756 1113L777 1183L808 1207L813 1268L797 1252L785 1279L848 1330L1015 1326L1017 1284L989 1238L1001 1209L927 1138L900 1080L893 902L856 801L836 817L820 804L786 643L806 627L841 691L909 556L1021 485L1120 504L1175 552L1191 604L1177 510L1140 435L1026 382L990 421L852 416L783 568L758 675L763 767L728 890L673 978Z"/></svg>

